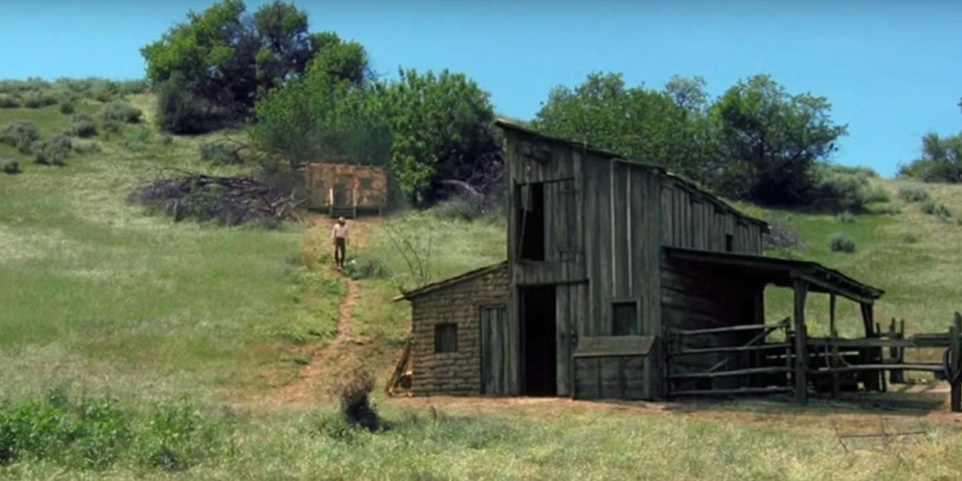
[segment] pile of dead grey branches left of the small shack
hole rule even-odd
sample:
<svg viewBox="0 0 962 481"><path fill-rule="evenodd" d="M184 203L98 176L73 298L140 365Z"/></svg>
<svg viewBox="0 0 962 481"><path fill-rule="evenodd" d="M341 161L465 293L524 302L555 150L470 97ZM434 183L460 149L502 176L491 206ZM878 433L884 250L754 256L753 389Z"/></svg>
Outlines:
<svg viewBox="0 0 962 481"><path fill-rule="evenodd" d="M139 186L132 200L155 208L177 221L188 217L227 225L257 221L276 226L296 220L293 192L249 177L215 177L188 173L165 177Z"/></svg>

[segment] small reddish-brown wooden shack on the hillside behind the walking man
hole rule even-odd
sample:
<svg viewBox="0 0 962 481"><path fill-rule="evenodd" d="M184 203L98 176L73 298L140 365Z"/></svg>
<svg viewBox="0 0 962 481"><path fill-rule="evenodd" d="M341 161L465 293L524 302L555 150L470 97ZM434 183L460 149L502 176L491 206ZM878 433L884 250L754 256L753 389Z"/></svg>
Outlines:
<svg viewBox="0 0 962 481"><path fill-rule="evenodd" d="M302 171L308 209L335 217L357 217L381 215L388 204L384 167L311 163Z"/></svg>

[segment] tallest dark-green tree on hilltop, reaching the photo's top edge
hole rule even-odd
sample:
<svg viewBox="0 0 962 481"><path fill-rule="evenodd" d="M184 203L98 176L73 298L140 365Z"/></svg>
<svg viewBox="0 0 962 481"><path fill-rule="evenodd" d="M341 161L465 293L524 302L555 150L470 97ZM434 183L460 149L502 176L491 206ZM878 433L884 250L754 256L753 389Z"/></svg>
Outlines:
<svg viewBox="0 0 962 481"><path fill-rule="evenodd" d="M259 92L300 77L318 52L342 43L334 34L310 34L307 14L291 4L275 1L253 15L245 12L242 0L223 0L203 13L188 13L187 22L140 49L147 79L161 88L177 83L188 99L170 105L199 101L202 106L193 114L241 120ZM330 63L330 73L360 82L367 72L367 56L359 47L352 47L353 57ZM164 114L165 106L161 107ZM203 119L182 123L205 124ZM165 124L174 132L177 125Z"/></svg>

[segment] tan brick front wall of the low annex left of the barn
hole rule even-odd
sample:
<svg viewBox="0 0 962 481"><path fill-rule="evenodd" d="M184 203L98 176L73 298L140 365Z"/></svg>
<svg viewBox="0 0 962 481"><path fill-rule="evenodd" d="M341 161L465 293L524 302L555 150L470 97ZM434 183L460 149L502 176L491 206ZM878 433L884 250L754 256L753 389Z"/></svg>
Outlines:
<svg viewBox="0 0 962 481"><path fill-rule="evenodd" d="M508 266L477 277L426 292L412 299L413 341L411 363L412 392L424 394L482 393L481 309L486 306L510 306ZM453 322L458 329L456 352L436 353L436 324ZM491 333L489 333L491 334ZM498 333L499 335L502 333ZM503 356L508 392L516 392L518 379L517 340L514 333L504 333L507 353ZM500 377L500 376L494 376Z"/></svg>

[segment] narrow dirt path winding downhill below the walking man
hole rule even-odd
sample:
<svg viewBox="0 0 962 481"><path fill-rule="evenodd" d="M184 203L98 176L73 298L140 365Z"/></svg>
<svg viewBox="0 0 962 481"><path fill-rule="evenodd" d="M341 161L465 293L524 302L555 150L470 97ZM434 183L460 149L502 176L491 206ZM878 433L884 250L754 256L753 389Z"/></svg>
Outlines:
<svg viewBox="0 0 962 481"><path fill-rule="evenodd" d="M311 359L311 363L298 372L296 379L271 392L269 396L271 403L299 405L315 401L318 387L324 384L322 380L325 374L333 374L329 372L329 368L336 364L335 360L342 344L350 339L353 326L351 315L359 296L357 281L344 276L344 282L347 284L347 295L344 296L341 304L338 334L334 341L319 349Z"/></svg>

